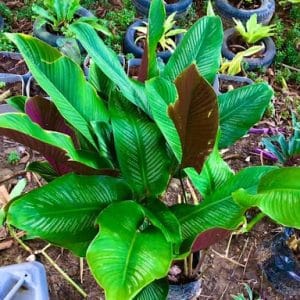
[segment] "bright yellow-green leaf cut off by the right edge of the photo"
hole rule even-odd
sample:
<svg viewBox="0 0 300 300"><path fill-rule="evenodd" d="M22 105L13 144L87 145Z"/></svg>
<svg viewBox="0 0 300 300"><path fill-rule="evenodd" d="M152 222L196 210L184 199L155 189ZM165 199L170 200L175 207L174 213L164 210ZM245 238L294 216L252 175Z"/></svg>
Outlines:
<svg viewBox="0 0 300 300"><path fill-rule="evenodd" d="M261 178L256 194L243 189L233 194L246 208L257 206L276 222L300 228L300 168L274 170Z"/></svg>

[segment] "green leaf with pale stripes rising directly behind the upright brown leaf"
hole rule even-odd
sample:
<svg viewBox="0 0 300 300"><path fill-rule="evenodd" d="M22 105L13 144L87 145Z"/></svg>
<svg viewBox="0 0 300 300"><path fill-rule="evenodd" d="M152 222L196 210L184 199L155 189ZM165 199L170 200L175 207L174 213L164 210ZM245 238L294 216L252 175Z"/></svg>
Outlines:
<svg viewBox="0 0 300 300"><path fill-rule="evenodd" d="M162 76L174 81L189 65L196 63L200 74L212 83L220 66L222 42L220 18L199 19L184 35Z"/></svg>

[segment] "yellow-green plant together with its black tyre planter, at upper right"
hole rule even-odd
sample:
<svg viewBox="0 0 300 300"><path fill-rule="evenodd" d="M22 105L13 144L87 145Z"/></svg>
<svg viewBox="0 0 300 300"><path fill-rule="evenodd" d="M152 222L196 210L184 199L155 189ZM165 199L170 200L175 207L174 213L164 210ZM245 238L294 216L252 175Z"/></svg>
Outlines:
<svg viewBox="0 0 300 300"><path fill-rule="evenodd" d="M232 60L235 56L241 55L243 51L251 46L262 46L260 51L252 53L250 57L244 59L249 70L261 67L268 67L272 64L276 48L271 38L274 35L275 25L262 25L257 23L257 15L253 14L247 21L246 26L240 20L235 20L236 26L227 29L224 33L222 55ZM253 48L252 48L253 49Z"/></svg>

